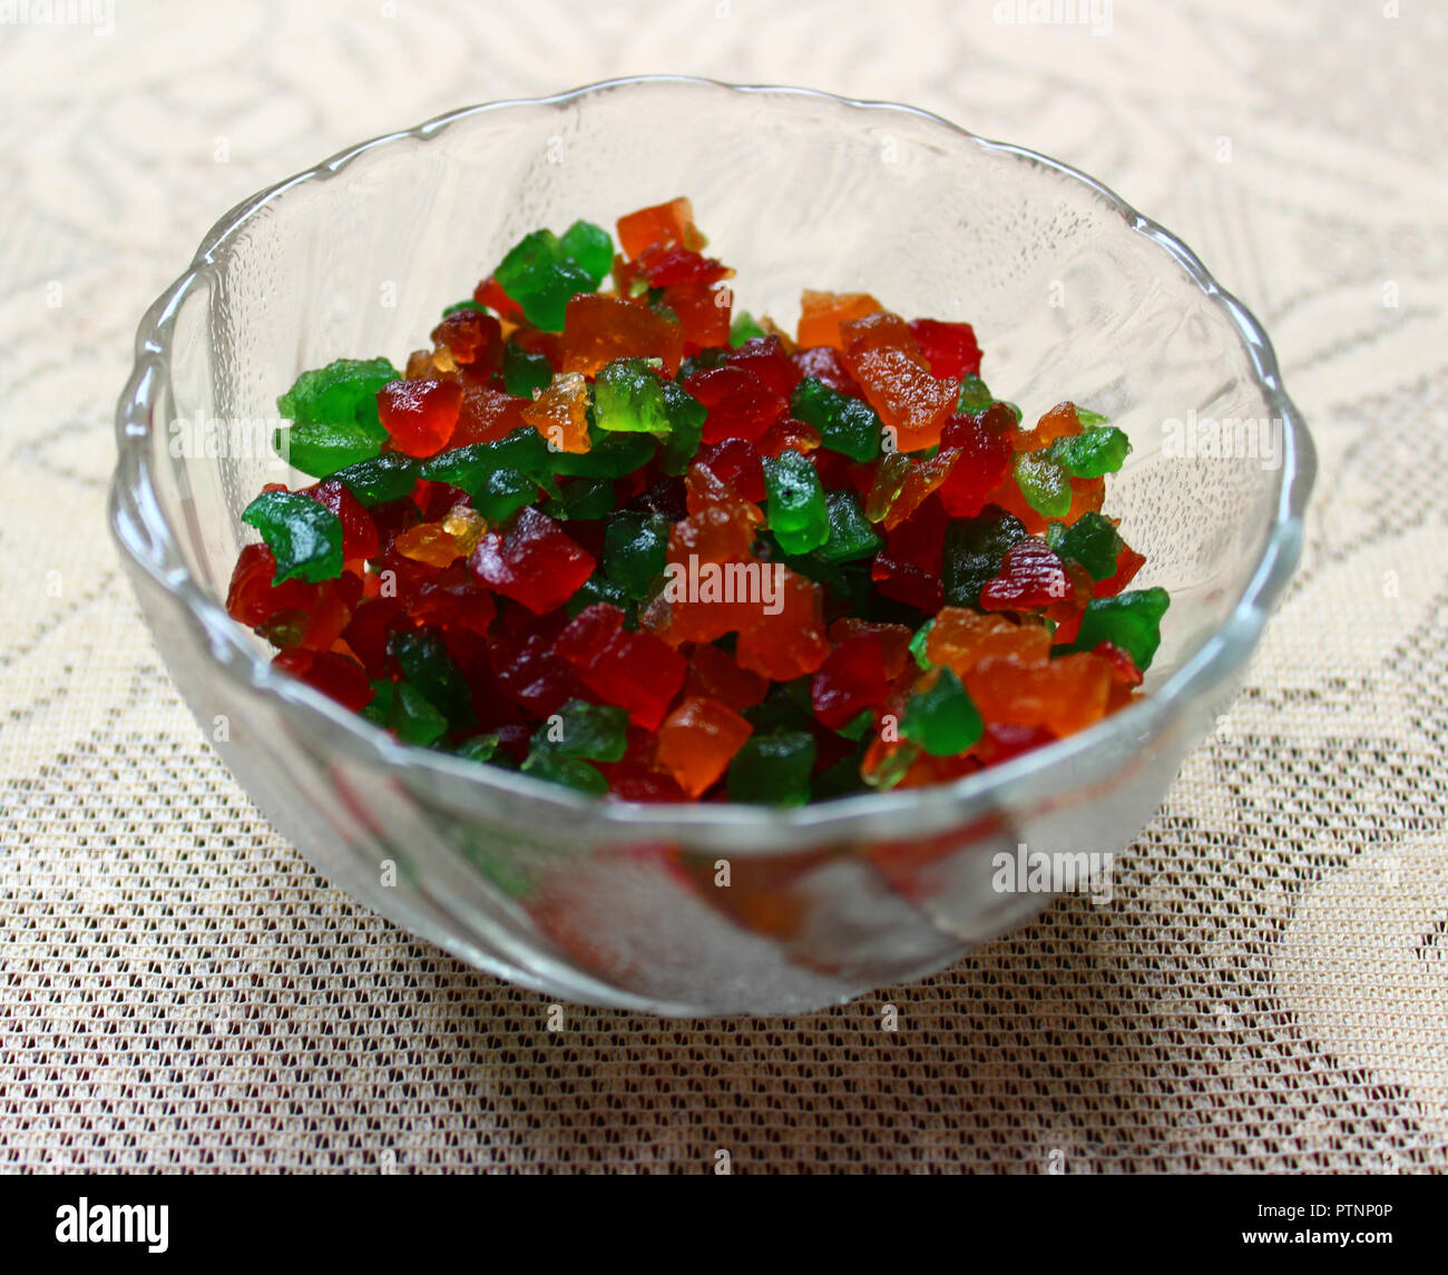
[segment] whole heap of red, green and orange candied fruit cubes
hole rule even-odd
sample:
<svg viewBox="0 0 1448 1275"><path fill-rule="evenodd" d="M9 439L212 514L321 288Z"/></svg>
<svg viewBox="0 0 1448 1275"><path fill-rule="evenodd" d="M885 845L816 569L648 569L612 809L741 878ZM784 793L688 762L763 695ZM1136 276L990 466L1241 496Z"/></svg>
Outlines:
<svg viewBox="0 0 1448 1275"><path fill-rule="evenodd" d="M734 308L688 200L510 249L404 370L303 373L311 482L227 609L414 747L575 797L780 808L961 780L1140 695L1169 599L1103 511L1129 441L1034 425L970 324Z"/></svg>

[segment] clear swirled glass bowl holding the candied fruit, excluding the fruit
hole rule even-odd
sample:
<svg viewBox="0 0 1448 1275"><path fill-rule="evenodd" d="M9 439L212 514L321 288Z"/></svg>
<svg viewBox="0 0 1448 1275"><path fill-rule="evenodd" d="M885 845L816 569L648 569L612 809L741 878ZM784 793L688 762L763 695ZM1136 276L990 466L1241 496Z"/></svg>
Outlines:
<svg viewBox="0 0 1448 1275"><path fill-rule="evenodd" d="M340 356L405 357L529 230L679 194L740 307L789 327L814 287L969 320L1030 420L1072 398L1129 433L1106 512L1173 598L1148 698L948 786L776 812L594 802L401 745L269 666L223 599L240 511L300 480L265 446L277 395ZM1276 424L1213 447L1208 418ZM908 107L678 77L459 110L233 208L142 320L117 431L110 521L142 609L277 828L482 970L678 1015L921 977L1050 903L998 889L1002 852L1127 847L1235 692L1315 467L1253 317L1099 182Z"/></svg>

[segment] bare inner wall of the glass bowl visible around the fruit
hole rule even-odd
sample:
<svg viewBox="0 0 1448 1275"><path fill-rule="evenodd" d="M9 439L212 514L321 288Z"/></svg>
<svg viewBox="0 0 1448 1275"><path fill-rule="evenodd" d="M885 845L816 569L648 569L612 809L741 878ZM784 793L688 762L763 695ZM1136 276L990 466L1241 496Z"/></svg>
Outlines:
<svg viewBox="0 0 1448 1275"><path fill-rule="evenodd" d="M1151 683L1257 572L1284 440L1250 350L1186 265L1079 177L915 111L698 81L491 107L429 132L269 195L175 304L152 483L211 598L253 538L239 514L261 485L304 480L266 446L298 372L342 356L400 366L529 230L613 226L678 194L737 269L736 307L792 327L811 287L964 318L983 376L1028 421L1070 398L1129 433L1106 512L1148 556L1140 582L1171 590ZM1251 424L1224 447L1212 421Z"/></svg>

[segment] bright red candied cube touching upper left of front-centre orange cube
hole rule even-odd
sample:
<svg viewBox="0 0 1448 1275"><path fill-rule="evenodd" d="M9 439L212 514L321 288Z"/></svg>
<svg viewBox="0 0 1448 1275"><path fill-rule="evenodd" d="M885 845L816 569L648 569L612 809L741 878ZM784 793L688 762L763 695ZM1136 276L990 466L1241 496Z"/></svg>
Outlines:
<svg viewBox="0 0 1448 1275"><path fill-rule="evenodd" d="M602 643L598 638L607 632ZM656 731L683 686L683 656L652 632L628 632L607 602L585 606L559 634L557 653L605 703L627 709L636 725Z"/></svg>

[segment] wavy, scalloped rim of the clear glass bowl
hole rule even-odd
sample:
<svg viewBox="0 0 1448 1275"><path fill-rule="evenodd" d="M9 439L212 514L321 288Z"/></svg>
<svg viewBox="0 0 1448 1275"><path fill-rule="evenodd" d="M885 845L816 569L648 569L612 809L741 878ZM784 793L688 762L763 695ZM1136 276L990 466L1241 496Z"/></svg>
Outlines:
<svg viewBox="0 0 1448 1275"><path fill-rule="evenodd" d="M1202 294L1226 314L1242 342L1257 388L1270 405L1271 414L1284 423L1276 511L1261 556L1231 614L1150 696L1077 735L999 767L935 787L867 793L794 810L743 805L636 805L595 800L515 771L478 766L397 742L385 731L342 708L321 692L272 669L268 658L252 648L240 625L226 614L224 606L207 596L190 575L175 533L155 498L149 467L152 421L169 385L175 315L188 294L195 287L204 285L216 272L216 262L224 256L229 242L248 220L292 187L310 181L327 181L361 155L376 148L426 143L452 124L473 116L579 104L597 94L660 84L730 94L805 97L830 104L841 114L851 111L905 114L947 130L959 145L976 146L1044 166L1089 188L1122 217L1129 230L1144 234L1161 247ZM1163 265L1167 262L1163 260ZM902 835L911 825L918 823L935 828L964 823L989 812L1009 809L1018 800L1040 796L1043 780L1051 770L1063 766L1070 766L1072 789L1079 790L1108 781L1112 771L1119 768L1122 755L1121 748L1109 747L1114 741L1135 741L1137 747L1144 745L1169 729L1189 706L1229 685L1234 674L1245 664L1296 567L1302 550L1303 515L1316 472L1312 439L1281 385L1277 357L1261 324L1235 297L1216 284L1192 249L1156 221L1142 217L1095 178L1035 151L977 137L950 120L918 107L847 98L789 85L725 84L692 75L623 77L546 97L505 98L462 107L413 129L385 133L349 146L316 166L243 200L216 221L201 240L191 265L142 317L136 331L135 366L116 410L116 437L117 463L110 489L109 522L122 551L155 585L182 603L182 615L193 630L191 637L204 644L219 676L269 698L284 716L297 719L298 725L314 728L308 734L317 735L326 731L332 745L350 757L379 763L387 768L408 770L414 779L424 781L421 787L445 795L453 809L475 810L479 819L495 813L491 809L489 795L497 793L514 803L524 799L540 806L586 815L595 825L594 832L599 839L640 836L650 841L723 839L737 844L741 850L756 848L763 854L798 847L798 838L847 839L850 825L862 819L879 828L879 821L889 821L898 815L904 821L899 825Z"/></svg>

